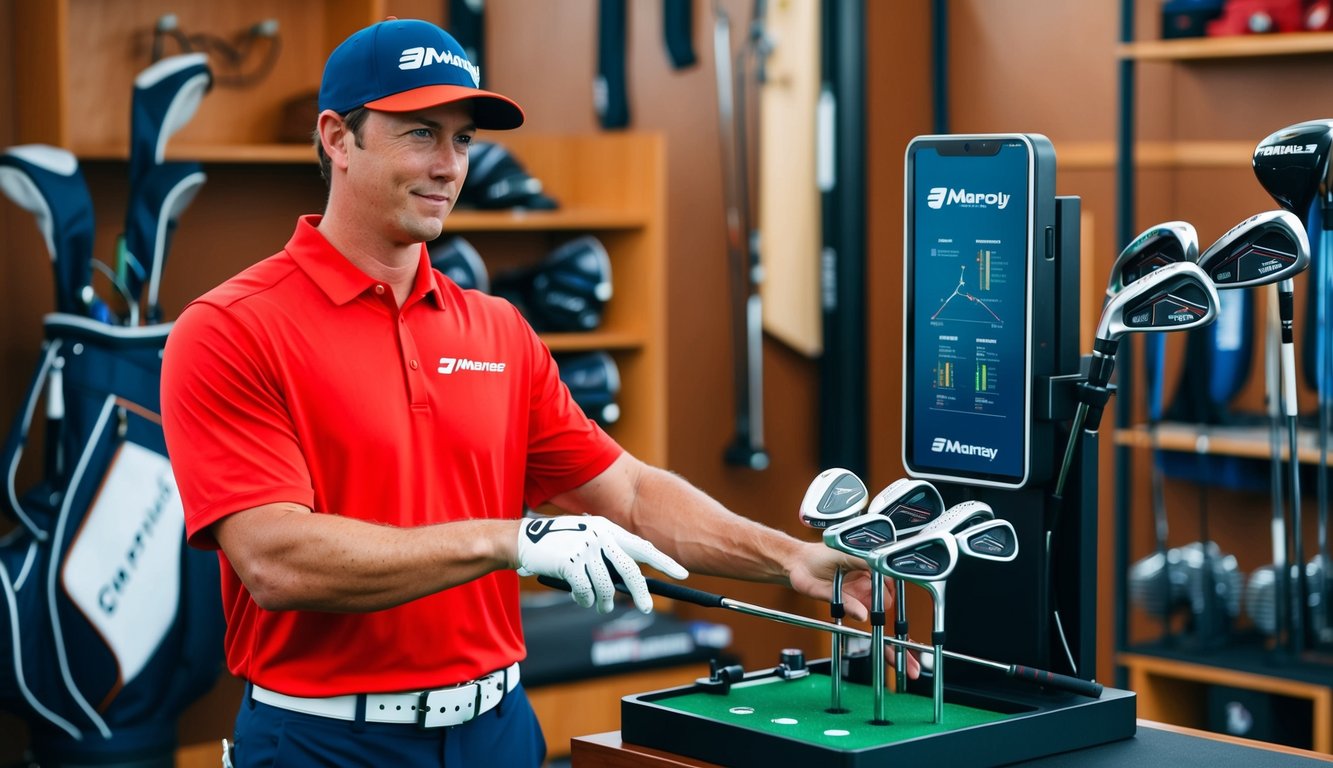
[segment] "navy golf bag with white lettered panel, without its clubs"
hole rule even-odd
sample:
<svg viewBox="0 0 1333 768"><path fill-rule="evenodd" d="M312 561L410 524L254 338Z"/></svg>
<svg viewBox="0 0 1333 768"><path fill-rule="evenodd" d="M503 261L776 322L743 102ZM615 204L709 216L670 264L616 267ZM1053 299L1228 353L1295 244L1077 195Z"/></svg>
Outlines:
<svg viewBox="0 0 1333 768"><path fill-rule="evenodd" d="M4 445L0 708L43 765L171 765L176 719L223 668L213 555L185 547L159 377L169 325L45 320ZM48 465L16 472L45 392Z"/></svg>

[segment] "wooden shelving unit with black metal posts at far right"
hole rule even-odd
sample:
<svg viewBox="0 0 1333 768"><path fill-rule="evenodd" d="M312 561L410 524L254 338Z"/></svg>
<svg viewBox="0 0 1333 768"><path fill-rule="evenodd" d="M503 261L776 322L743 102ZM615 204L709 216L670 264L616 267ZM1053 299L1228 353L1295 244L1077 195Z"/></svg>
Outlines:
<svg viewBox="0 0 1333 768"><path fill-rule="evenodd" d="M1132 37L1134 9L1144 11L1149 4L1137 0L1121 0L1121 20L1124 23L1122 37ZM1156 7L1154 7L1156 8ZM1188 67L1192 76L1192 85L1200 87L1201 81L1208 81L1214 88L1220 83L1244 80L1246 75L1258 67L1280 65L1292 57L1321 57L1321 64L1326 65L1328 55L1333 53L1333 33L1305 32L1285 35L1252 35L1237 37L1200 37L1180 40L1128 40L1117 49L1121 72L1121 139L1117 145L1120 185L1121 227L1118 239L1128 241L1137 232L1133 213L1142 213L1134 203L1134 175L1142 169L1165 171L1153 176L1154 183L1166 183L1172 179L1172 172L1181 176L1194 171L1212 169L1242 169L1249 168L1256 143L1261 139L1257 135L1253 141L1228 140L1194 140L1188 136L1196 127L1188 121L1172 123L1172 132L1178 137L1156 141L1134 141L1134 113L1136 113L1136 85L1134 72L1142 64L1157 67ZM1285 72L1285 69L1284 69ZM1229 80L1230 79L1230 80ZM1253 91L1261 79L1245 80ZM1237 92L1237 99L1246 99L1249 92ZM1142 99L1142 96L1137 96ZM1258 105L1250 108L1260 108ZM1265 107L1266 108L1266 107ZM1268 117L1277 128L1284 120L1297 123L1300 120L1318 117L1321 115L1308 113L1309 104L1298 104L1292 109L1272 111ZM1316 112L1321 108L1314 107ZM1126 139L1128 137L1128 139ZM1196 175L1197 176L1197 175ZM1274 204L1276 207L1276 204ZM1129 212L1129 213L1126 213ZM1162 219L1180 217L1177 212L1170 212ZM1202 231L1201 231L1202 236ZM1206 239L1205 239L1206 244ZM1298 321L1300 323L1300 321ZM1300 329L1298 329L1300 335ZM1256 365L1260 365L1256 363ZM1141 397L1136 395L1133 371L1120 371L1121 381L1126 377L1130 387L1121 388L1117 399ZM1134 483L1132 467L1136 457L1144 456L1146 451L1176 451L1184 453L1205 453L1213 456L1234 456L1245 459L1268 460L1272 456L1269 432L1266 424L1217 427L1181 423L1162 423L1154 431L1149 431L1144 424L1126 424L1124 413L1114 431L1117 445L1117 572L1122 575L1128 569L1132 557L1142 556L1146 552L1133 552L1132 529L1149 531L1153 521L1145 512L1145 504L1134 504L1137 495L1145 491L1146 480L1138 479ZM1305 464L1318 461L1316 447L1317 433L1313 429L1302 428L1297 433L1297 460ZM1282 452L1286 453L1288 443L1285 424L1282 432ZM1313 492L1312 489L1306 489ZM1146 493L1145 493L1146 496ZM1214 519L1225 519L1232 509L1221 508L1218 501L1208 511ZM1216 531L1216 528L1214 528ZM1141 540L1140 540L1141 543ZM1258 543L1254 543L1258 549ZM1252 553L1257 559L1265 555ZM1266 560L1261 560L1266 561ZM1116 663L1120 672L1125 675L1124 683L1138 693L1138 715L1148 720L1161 720L1186 727L1205 728L1208 723L1208 692L1213 687L1238 688L1244 691L1280 696L1284 699L1308 703L1312 713L1313 732L1310 741L1316 751L1333 751L1333 688L1330 688L1329 675L1333 668L1320 664L1290 663L1274 667L1272 657L1265 652L1261 643L1233 643L1226 651L1218 653L1184 653L1173 649L1165 643L1141 641L1144 632L1130 632L1129 624L1134 613L1126 608L1126 589L1124 585L1117 589L1121 600L1117 608L1117 655ZM1130 637L1134 637L1132 641ZM1302 704L1305 705L1305 704Z"/></svg>

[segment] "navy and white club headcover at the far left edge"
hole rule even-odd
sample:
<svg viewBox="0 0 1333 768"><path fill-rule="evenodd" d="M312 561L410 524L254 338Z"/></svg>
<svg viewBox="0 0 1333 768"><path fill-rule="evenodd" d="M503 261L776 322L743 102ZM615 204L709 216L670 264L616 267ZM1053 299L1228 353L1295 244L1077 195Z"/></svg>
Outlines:
<svg viewBox="0 0 1333 768"><path fill-rule="evenodd" d="M55 272L56 312L92 311L92 195L72 152L21 144L0 153L0 192L33 215Z"/></svg>

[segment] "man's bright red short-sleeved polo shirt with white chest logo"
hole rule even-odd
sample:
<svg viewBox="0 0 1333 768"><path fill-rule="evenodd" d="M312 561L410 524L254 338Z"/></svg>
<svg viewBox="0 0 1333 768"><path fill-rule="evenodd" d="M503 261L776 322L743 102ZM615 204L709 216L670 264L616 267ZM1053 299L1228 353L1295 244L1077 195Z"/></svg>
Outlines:
<svg viewBox="0 0 1333 768"><path fill-rule="evenodd" d="M620 455L508 301L461 291L423 245L400 309L317 224L172 328L163 425L191 544L276 501L400 527L517 519ZM265 688L440 687L525 655L512 571L372 613L271 612L219 559L228 667Z"/></svg>

